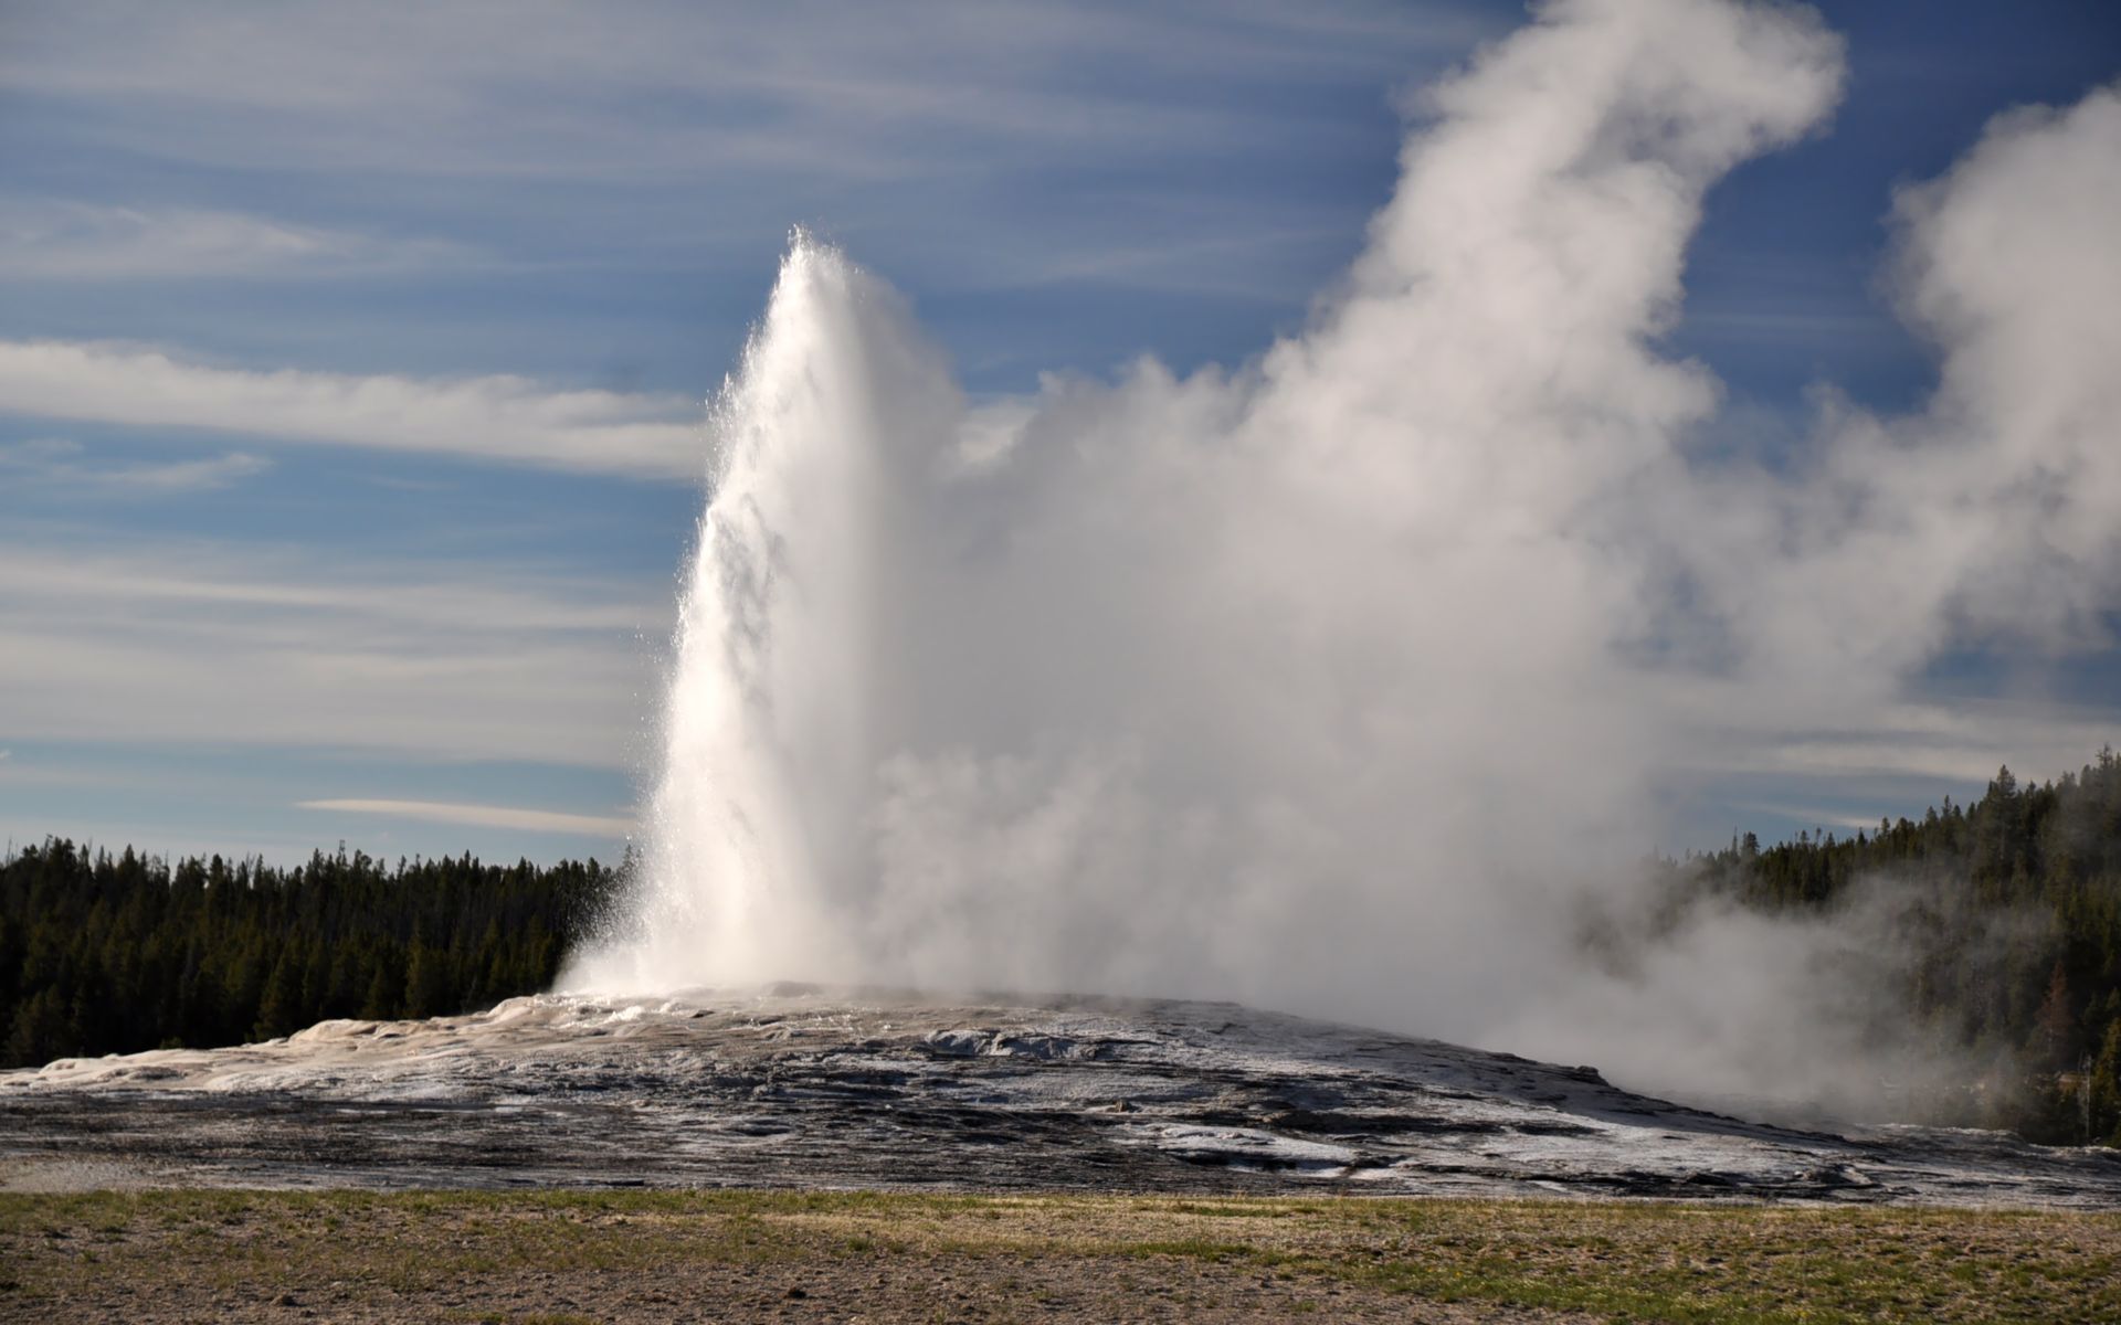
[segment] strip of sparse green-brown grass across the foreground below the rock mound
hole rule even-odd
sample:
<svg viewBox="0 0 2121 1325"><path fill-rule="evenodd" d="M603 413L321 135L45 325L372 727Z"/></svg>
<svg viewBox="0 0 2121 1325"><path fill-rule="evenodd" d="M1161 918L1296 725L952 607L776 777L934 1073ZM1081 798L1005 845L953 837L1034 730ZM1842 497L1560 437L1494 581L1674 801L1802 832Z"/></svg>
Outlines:
<svg viewBox="0 0 2121 1325"><path fill-rule="evenodd" d="M1292 1285L1287 1314L1317 1312L1317 1293L1334 1291L1603 1321L2121 1319L2121 1215L874 1191L0 1194L0 1319L98 1302L115 1285L170 1302L327 1289L428 1302L522 1276L658 1283L740 1268L829 1285L908 1261L925 1274L967 1268L1027 1319L1071 1270L1094 1270L1122 1295L1177 1280L1190 1293ZM435 1317L607 1319L573 1306Z"/></svg>

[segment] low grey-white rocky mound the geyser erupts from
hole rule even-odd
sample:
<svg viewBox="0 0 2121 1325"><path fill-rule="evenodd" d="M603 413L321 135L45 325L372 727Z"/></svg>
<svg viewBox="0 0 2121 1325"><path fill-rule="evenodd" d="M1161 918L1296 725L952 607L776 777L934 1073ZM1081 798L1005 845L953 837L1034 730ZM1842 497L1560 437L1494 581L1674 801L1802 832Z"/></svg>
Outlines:
<svg viewBox="0 0 2121 1325"><path fill-rule="evenodd" d="M511 999L0 1073L0 1187L744 1185L2121 1208L2121 1153L1850 1136L1228 1003Z"/></svg>

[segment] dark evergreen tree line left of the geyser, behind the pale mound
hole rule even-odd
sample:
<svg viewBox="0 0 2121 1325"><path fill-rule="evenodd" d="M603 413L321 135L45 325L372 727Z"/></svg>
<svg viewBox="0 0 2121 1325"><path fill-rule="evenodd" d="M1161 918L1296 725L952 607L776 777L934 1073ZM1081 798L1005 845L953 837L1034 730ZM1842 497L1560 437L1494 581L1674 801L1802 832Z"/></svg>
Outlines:
<svg viewBox="0 0 2121 1325"><path fill-rule="evenodd" d="M428 1018L551 988L619 871L458 859L386 867L110 854L0 863L0 1066Z"/></svg>

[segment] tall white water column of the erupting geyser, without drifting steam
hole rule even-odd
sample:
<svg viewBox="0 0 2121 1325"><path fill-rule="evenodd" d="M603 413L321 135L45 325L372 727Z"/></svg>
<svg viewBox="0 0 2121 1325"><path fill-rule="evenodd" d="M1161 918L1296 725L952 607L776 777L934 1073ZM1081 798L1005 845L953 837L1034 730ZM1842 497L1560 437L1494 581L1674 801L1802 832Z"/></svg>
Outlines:
<svg viewBox="0 0 2121 1325"><path fill-rule="evenodd" d="M893 297L795 233L715 405L713 500L679 621L641 912L575 973L679 988L844 969L836 907L878 755ZM904 388L901 388L904 390ZM904 445L899 447L904 449Z"/></svg>

